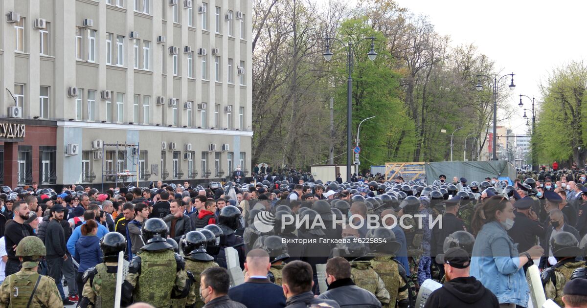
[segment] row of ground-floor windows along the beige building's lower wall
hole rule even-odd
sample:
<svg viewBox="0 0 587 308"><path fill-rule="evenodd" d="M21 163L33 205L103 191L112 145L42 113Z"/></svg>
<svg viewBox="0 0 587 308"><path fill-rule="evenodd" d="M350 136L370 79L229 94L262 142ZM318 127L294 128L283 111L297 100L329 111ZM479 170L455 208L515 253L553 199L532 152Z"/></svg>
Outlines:
<svg viewBox="0 0 587 308"><path fill-rule="evenodd" d="M83 182L92 182L96 178L96 173L93 171L93 153L94 151L82 151L82 181ZM126 157L126 154L123 151L106 151L104 154L104 170L103 176L104 181L110 182L113 181L116 177L117 173L124 172L127 169L128 165L132 165L133 161L129 157ZM194 161L197 161L195 158L195 152L193 151L186 151L184 152L184 157L181 156L181 151L173 151L171 153L171 170L167 169L167 152L161 151L161 163L158 165L160 168L157 172L160 173L160 177L162 180L167 180L168 178L172 179L183 179L183 178L195 178L200 175L201 178L222 178L222 177L230 177L232 174L232 170L235 170L233 162L234 162L234 153L228 152L226 157L227 162L227 172L224 170L222 165L222 153L216 152L214 153L214 166L213 169L210 170L210 163L209 155L207 151L201 153L200 158L200 171L198 172L197 167L194 166ZM245 166L245 152L239 153L239 161L238 165L241 166L243 170L246 170ZM186 161L185 173L182 169L183 165L181 161ZM149 170L149 165L147 164L147 151L139 151L139 164L138 164L138 171L139 171L139 180L149 180L151 176L151 170ZM169 172L171 171L171 173Z"/></svg>

